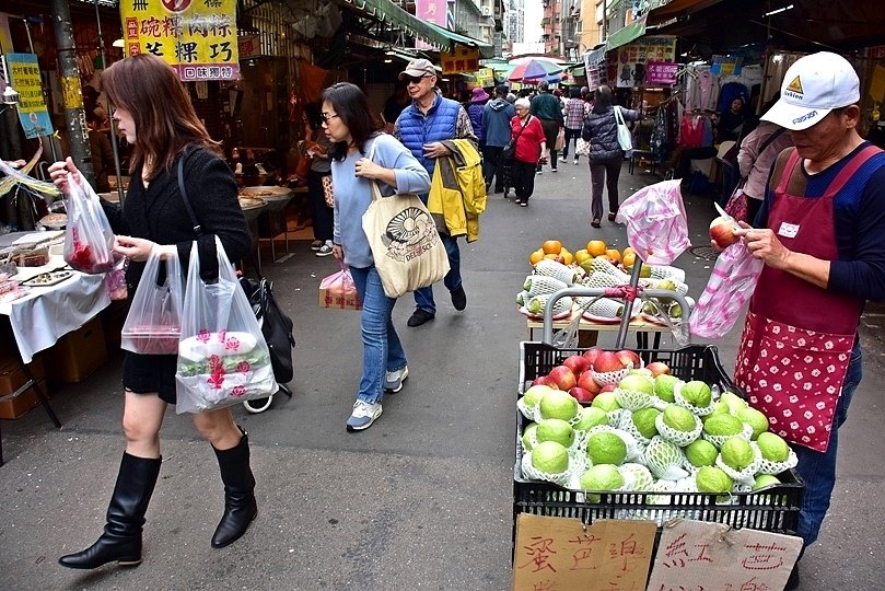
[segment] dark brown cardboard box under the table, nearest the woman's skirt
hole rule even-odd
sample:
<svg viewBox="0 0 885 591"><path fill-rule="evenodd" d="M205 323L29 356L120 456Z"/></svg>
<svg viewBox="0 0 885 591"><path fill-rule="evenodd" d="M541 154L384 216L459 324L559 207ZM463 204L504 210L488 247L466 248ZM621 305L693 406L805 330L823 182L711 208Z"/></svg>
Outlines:
<svg viewBox="0 0 885 591"><path fill-rule="evenodd" d="M68 333L46 350L44 358L50 382L66 384L82 382L107 362L102 318L95 316L86 324Z"/></svg>

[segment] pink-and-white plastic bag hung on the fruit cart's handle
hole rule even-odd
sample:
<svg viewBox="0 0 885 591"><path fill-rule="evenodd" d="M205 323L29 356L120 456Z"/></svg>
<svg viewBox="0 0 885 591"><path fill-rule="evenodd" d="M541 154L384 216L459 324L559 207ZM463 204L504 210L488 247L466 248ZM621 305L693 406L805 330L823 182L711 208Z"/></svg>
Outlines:
<svg viewBox="0 0 885 591"><path fill-rule="evenodd" d="M691 246L680 179L641 188L618 208L616 220L627 225L627 242L649 265L669 265Z"/></svg>

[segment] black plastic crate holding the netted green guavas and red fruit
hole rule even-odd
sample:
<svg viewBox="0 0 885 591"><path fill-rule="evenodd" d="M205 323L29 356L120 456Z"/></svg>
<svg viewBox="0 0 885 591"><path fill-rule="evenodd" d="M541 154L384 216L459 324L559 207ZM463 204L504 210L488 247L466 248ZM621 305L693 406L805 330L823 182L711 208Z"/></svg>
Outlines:
<svg viewBox="0 0 885 591"><path fill-rule="evenodd" d="M524 341L520 345L520 392L538 375L546 374L569 355L584 349L557 349L543 343ZM743 394L732 383L719 361L717 348L692 345L676 350L637 351L645 362L663 361L671 372L683 380L702 380L719 384L722 390ZM730 498L706 493L601 493L598 502L590 502L581 490L555 484L531 480L522 475L522 431L526 419L516 413L516 462L513 466L513 524L516 515L537 515L580 519L591 524L598 519L644 519L656 521L659 528L671 519L694 519L750 528L771 533L795 535L802 507L804 484L795 471L780 474L779 486L760 493L736 493ZM718 497L720 497L718 499Z"/></svg>

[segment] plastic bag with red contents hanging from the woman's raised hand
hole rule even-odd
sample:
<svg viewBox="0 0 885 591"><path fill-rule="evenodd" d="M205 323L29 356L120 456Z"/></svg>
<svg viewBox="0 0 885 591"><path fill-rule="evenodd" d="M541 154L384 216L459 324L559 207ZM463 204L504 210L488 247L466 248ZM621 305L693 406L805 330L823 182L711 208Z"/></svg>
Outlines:
<svg viewBox="0 0 885 591"><path fill-rule="evenodd" d="M81 273L98 275L112 270L123 256L113 251L114 231L98 196L82 176L80 181L68 173L65 262Z"/></svg>

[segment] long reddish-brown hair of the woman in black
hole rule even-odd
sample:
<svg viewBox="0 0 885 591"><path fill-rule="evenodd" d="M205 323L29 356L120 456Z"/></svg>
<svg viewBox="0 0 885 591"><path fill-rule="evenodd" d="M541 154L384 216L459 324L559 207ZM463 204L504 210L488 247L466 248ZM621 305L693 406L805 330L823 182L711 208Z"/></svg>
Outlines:
<svg viewBox="0 0 885 591"><path fill-rule="evenodd" d="M136 124L136 146L129 172L153 160L151 178L161 167L170 170L178 154L196 144L220 154L202 125L178 74L152 54L139 54L113 63L102 73L102 88Z"/></svg>

